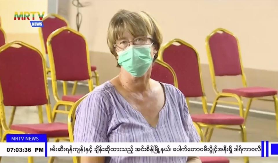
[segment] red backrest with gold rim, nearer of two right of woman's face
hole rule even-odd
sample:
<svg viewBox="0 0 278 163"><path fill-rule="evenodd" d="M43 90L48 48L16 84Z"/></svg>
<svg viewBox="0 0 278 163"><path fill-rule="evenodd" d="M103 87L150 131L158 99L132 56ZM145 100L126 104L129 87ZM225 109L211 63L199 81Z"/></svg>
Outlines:
<svg viewBox="0 0 278 163"><path fill-rule="evenodd" d="M204 95L200 78L199 57L190 44L181 39L173 39L160 48L159 58L162 58L174 69L179 89L185 97Z"/></svg>

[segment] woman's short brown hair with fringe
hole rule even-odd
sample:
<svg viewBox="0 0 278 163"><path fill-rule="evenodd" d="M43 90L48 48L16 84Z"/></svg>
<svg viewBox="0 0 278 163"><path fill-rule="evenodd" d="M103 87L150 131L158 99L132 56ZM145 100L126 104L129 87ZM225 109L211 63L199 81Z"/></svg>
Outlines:
<svg viewBox="0 0 278 163"><path fill-rule="evenodd" d="M117 53L114 44L116 44L116 40L125 31L130 32L134 37L151 36L156 49L158 50L160 48L162 33L153 17L143 11L131 12L128 10L120 10L112 17L107 31L107 44L115 58L117 57ZM157 56L158 52L154 56L154 61Z"/></svg>

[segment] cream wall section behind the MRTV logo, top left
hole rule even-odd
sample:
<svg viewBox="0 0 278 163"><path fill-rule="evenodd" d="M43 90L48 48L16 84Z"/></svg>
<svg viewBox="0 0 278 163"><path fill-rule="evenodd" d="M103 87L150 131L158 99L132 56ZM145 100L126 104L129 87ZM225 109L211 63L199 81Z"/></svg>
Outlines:
<svg viewBox="0 0 278 163"><path fill-rule="evenodd" d="M38 11L47 15L47 0L0 0L1 28L7 35L7 41L20 40L41 50L38 28L32 28L28 20L14 20L14 12ZM35 15L35 20L39 20Z"/></svg>

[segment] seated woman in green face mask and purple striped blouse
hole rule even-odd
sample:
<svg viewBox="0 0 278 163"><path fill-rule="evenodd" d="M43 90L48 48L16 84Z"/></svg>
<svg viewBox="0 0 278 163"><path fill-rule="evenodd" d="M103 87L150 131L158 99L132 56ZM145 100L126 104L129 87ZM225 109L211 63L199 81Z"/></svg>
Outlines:
<svg viewBox="0 0 278 163"><path fill-rule="evenodd" d="M150 79L162 34L145 12L120 10L107 44L120 74L96 87L76 110L75 142L199 142L184 95ZM82 157L81 163L200 163L198 157Z"/></svg>

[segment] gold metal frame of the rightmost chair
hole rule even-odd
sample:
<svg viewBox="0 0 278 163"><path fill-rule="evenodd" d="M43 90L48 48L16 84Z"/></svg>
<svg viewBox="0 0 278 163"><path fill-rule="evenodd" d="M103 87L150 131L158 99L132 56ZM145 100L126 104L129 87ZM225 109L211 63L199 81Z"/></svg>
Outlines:
<svg viewBox="0 0 278 163"><path fill-rule="evenodd" d="M247 120L247 116L251 107L251 103L253 100L260 100L260 101L270 101L270 102L274 102L274 107L275 107L275 119L276 119L276 129L277 129L277 135L278 135L278 99L277 99L277 95L273 95L272 98L273 99L265 99L265 98L257 98L257 97L252 97L252 98L248 98L248 103L246 106L246 110L244 112L244 106L243 106L243 102L242 102L242 97L233 94L233 93L222 93L217 89L216 86L216 79L215 79L215 73L214 73L214 66L213 66L213 60L212 60L212 56L211 56L211 50L210 50L210 46L209 46L209 39L211 38L211 36L213 36L215 33L222 31L222 32L226 32L230 35L232 35L233 37L235 37L235 39L237 40L237 48L238 48L238 54L239 54L239 62L240 62L240 68L241 68L241 73L242 73L242 84L244 87L247 87L247 82L246 82L246 76L244 73L244 67L242 64L242 57L241 57L241 51L240 51L240 46L239 46L239 41L237 39L237 37L230 31L224 29L224 28L217 28L215 29L213 32L211 32L207 37L206 37L206 51L207 51L207 55L209 58L209 69L210 69L210 74L211 74L211 80L212 80L212 84L213 84L213 90L216 93L216 99L215 102L213 103L212 110L211 112L213 113L215 110L215 107L217 105L217 103L224 103L224 104L233 104L233 105L238 105L239 106L239 114L241 117L244 117L244 123L246 124L246 120ZM225 98L225 97L234 97L235 99L237 99L237 103L236 102L229 102L229 101L220 101L220 98Z"/></svg>

